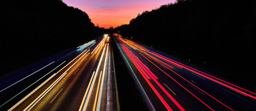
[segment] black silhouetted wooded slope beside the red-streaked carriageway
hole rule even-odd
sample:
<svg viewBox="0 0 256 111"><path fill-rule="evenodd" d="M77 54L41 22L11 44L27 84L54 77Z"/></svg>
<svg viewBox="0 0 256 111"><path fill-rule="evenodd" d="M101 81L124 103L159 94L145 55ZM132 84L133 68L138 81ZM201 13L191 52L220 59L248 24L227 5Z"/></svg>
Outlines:
<svg viewBox="0 0 256 111"><path fill-rule="evenodd" d="M256 1L177 0L115 28L255 90ZM190 62L191 63L191 62Z"/></svg>

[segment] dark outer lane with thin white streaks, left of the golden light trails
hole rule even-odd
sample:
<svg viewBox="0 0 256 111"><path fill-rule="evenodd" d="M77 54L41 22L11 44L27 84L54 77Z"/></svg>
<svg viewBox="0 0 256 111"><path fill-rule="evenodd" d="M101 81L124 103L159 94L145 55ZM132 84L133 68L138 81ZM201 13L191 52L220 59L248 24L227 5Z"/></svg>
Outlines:
<svg viewBox="0 0 256 111"><path fill-rule="evenodd" d="M79 55L84 48L89 48L94 44L95 40L84 44L81 48L74 48L58 55L35 68L18 71L16 76L7 75L7 79L1 78L0 99L3 101L0 101L0 108L8 110L29 92L52 76L54 72L56 73L67 65L67 61L71 61L75 56Z"/></svg>

